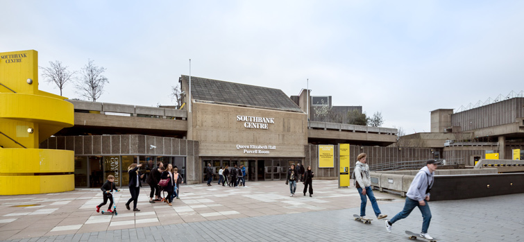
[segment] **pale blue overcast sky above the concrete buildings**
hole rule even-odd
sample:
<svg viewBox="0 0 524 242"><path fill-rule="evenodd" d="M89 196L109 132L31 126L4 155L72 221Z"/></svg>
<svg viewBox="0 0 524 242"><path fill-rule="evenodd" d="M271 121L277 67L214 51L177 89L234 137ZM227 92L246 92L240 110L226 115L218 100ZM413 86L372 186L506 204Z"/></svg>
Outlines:
<svg viewBox="0 0 524 242"><path fill-rule="evenodd" d="M430 111L524 89L524 1L0 0L0 52L38 51L78 71L97 100L173 105L180 75L226 80L381 112L382 127L430 132ZM40 71L41 74L42 71ZM521 84L519 84L521 83ZM39 88L60 90L40 77ZM74 82L63 90L81 98Z"/></svg>

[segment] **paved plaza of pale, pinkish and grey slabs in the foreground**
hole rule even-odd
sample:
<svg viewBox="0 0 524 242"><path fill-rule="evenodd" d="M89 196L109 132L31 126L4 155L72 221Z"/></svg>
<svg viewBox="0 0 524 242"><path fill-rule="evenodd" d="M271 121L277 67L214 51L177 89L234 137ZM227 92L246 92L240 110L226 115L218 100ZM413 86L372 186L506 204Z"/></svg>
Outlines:
<svg viewBox="0 0 524 242"><path fill-rule="evenodd" d="M138 208L128 211L127 189L115 194L119 214L96 213L99 189L65 193L1 196L0 240L7 241L409 241L419 232L418 209L387 233L384 220L366 225L353 220L360 211L356 189L338 189L336 180L314 180L314 196L299 184L289 197L285 181L248 182L248 187L184 185L173 207L149 203L140 190ZM353 183L352 183L353 184ZM375 191L388 218L404 198ZM439 241L524 241L524 194L430 202L429 233ZM103 210L107 209L107 205ZM373 217L368 202L367 216Z"/></svg>

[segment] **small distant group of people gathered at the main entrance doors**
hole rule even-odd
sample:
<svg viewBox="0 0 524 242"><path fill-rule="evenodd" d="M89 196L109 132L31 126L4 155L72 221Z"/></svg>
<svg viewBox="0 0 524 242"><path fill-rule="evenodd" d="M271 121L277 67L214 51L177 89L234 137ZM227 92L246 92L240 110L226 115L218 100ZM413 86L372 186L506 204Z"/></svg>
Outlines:
<svg viewBox="0 0 524 242"><path fill-rule="evenodd" d="M246 187L246 167L244 164L237 166L233 165L231 168L229 166L222 167L219 169L219 183L222 184L222 187ZM213 180L213 168L211 163L208 163L208 166L205 167L205 178L208 180L208 186L212 186L211 182Z"/></svg>

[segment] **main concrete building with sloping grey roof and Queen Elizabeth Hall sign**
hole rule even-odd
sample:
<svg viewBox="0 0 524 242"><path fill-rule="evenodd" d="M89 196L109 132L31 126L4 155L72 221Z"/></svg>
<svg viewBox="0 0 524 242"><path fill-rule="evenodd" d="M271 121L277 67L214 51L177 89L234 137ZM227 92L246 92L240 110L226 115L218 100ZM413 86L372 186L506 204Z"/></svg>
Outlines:
<svg viewBox="0 0 524 242"><path fill-rule="evenodd" d="M189 92L189 76L179 81L183 110L71 100L74 126L40 147L74 150L77 187L97 187L109 174L126 186L128 164L144 164L148 173L160 161L178 166L188 183L203 182L208 163L216 173L220 166L243 164L248 181L285 180L290 164L317 166L318 144L351 144L354 152L369 150L377 159L425 154L381 151L378 146L396 141L394 128L308 122L307 92L297 105L280 89L191 77ZM314 169L318 178L337 178L336 167Z"/></svg>

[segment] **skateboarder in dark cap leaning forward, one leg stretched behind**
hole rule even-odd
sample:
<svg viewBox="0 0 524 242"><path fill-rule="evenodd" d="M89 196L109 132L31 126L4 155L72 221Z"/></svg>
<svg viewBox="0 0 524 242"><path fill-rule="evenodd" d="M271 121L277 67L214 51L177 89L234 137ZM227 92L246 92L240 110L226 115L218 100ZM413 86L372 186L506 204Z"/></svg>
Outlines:
<svg viewBox="0 0 524 242"><path fill-rule="evenodd" d="M432 236L428 234L431 222L429 201L430 190L434 182L434 171L437 170L438 164L438 160L430 159L426 162L426 165L420 169L419 173L416 173L411 185L409 185L409 189L407 189L404 209L391 218L390 221L386 221L387 232L391 233L391 225L400 219L407 218L415 207L419 207L423 218L420 235L425 239L433 239Z"/></svg>

